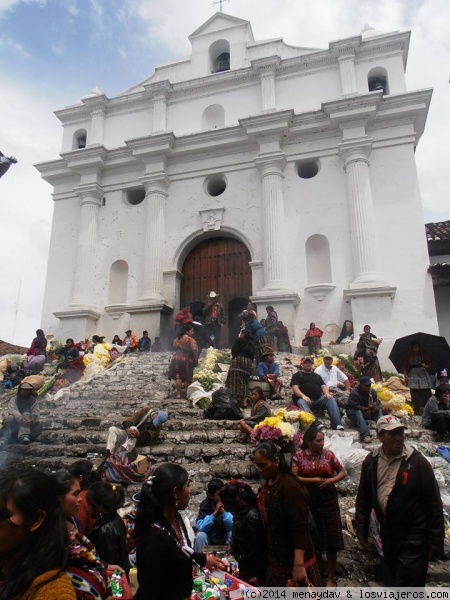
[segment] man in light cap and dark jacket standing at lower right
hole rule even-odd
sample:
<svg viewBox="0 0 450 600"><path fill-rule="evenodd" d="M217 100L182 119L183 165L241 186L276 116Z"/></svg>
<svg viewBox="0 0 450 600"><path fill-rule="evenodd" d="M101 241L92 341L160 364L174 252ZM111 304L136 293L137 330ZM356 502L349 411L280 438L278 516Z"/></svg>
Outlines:
<svg viewBox="0 0 450 600"><path fill-rule="evenodd" d="M433 468L405 445L405 425L391 415L377 422L381 447L364 459L356 497L356 535L367 545L375 510L383 546L384 584L424 587L428 561L444 552L444 517Z"/></svg>

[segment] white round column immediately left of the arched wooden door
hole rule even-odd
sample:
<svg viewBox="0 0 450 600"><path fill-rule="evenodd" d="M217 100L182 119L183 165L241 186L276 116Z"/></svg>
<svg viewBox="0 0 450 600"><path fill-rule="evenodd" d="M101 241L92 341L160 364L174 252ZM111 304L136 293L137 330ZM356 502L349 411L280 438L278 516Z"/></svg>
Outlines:
<svg viewBox="0 0 450 600"><path fill-rule="evenodd" d="M147 215L143 250L141 300L162 300L165 210L170 180L165 173L147 176L145 185Z"/></svg>

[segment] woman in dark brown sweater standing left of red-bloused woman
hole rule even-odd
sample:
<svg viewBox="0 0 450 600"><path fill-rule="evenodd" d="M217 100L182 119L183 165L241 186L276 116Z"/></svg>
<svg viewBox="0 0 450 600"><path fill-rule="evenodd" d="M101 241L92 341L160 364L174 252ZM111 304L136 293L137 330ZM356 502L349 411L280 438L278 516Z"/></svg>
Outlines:
<svg viewBox="0 0 450 600"><path fill-rule="evenodd" d="M253 461L266 480L258 492L259 513L267 533L265 585L285 587L293 580L320 586L303 486L291 473L281 448L273 442L259 444Z"/></svg>

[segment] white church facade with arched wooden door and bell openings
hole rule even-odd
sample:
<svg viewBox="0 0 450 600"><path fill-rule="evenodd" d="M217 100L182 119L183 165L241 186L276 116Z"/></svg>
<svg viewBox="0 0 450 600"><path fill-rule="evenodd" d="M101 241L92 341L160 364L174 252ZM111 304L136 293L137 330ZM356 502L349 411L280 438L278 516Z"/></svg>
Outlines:
<svg viewBox="0 0 450 600"><path fill-rule="evenodd" d="M216 13L189 40L118 96L56 112L60 158L37 165L54 187L44 330L167 344L180 305L213 290L229 343L248 298L297 346L311 321L325 341L369 323L384 353L437 333L414 158L432 92L407 90L410 33L303 48Z"/></svg>

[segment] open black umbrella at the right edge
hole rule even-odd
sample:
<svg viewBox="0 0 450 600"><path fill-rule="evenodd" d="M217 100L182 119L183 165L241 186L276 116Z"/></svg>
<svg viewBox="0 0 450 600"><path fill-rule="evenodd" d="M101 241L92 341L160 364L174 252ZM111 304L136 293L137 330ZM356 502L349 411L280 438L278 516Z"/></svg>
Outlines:
<svg viewBox="0 0 450 600"><path fill-rule="evenodd" d="M395 340L389 358L398 373L403 373L405 358L411 354L411 342L413 341L417 342L420 350L427 355L431 364L429 369L431 372L447 365L450 360L450 346L447 340L440 335L419 331Z"/></svg>

